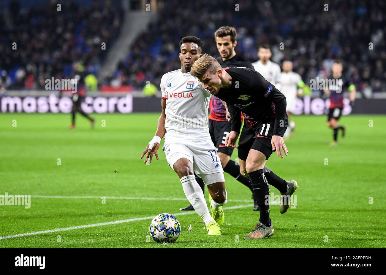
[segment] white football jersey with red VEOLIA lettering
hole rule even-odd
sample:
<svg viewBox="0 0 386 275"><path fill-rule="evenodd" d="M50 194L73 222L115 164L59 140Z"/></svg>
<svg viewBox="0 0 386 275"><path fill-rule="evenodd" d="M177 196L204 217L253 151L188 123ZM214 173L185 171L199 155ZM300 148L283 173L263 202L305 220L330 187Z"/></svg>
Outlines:
<svg viewBox="0 0 386 275"><path fill-rule="evenodd" d="M181 69L166 73L161 78L161 92L166 100L165 140L210 140L210 93L195 76Z"/></svg>

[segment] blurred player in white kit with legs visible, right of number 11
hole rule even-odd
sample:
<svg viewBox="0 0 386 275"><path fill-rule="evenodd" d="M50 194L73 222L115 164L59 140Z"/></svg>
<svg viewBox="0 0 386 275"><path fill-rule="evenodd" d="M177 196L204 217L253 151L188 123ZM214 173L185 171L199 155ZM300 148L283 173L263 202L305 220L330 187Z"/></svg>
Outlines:
<svg viewBox="0 0 386 275"><path fill-rule="evenodd" d="M293 65L291 61L283 62L283 72L281 73L281 93L284 94L287 100L287 115L288 115L288 127L284 133L284 139L287 140L291 132L295 130L295 122L291 120L291 113L296 106L296 98L301 93L298 93L298 89L304 89L305 83L301 80L301 76L292 71Z"/></svg>

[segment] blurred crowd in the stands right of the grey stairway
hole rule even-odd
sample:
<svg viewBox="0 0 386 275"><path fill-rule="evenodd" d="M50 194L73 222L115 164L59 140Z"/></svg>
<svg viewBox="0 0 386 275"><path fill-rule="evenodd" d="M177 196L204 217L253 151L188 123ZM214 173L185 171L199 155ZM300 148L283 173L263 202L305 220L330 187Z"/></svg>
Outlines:
<svg viewBox="0 0 386 275"><path fill-rule="evenodd" d="M272 61L281 65L291 60L294 71L309 83L317 76L327 78L332 60L339 58L359 90L386 91L386 2L335 0L329 2L328 11L324 3L160 1L157 20L136 39L111 80L137 89L146 81L159 87L164 73L181 67L181 37L200 37L203 52L218 57L213 34L218 27L231 25L238 32L236 52L251 62L258 59L259 44L268 43Z"/></svg>

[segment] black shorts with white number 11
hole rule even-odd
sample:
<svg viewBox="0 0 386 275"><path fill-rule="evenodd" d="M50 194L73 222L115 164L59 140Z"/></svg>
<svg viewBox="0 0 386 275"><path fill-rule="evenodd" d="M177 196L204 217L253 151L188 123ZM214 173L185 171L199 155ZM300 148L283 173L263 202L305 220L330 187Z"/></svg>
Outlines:
<svg viewBox="0 0 386 275"><path fill-rule="evenodd" d="M274 152L271 145L274 126L275 121L259 123L254 128L250 128L247 123L244 123L237 147L239 159L247 160L249 150L251 149L262 152L266 159L268 159L272 152Z"/></svg>

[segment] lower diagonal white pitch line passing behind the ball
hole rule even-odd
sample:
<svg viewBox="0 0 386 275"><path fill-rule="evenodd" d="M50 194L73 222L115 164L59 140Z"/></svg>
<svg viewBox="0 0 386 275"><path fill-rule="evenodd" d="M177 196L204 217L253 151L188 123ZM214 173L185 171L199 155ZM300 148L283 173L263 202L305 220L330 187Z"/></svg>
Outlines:
<svg viewBox="0 0 386 275"><path fill-rule="evenodd" d="M250 207L250 206L253 206L253 204L224 207L224 209L230 210L230 209L245 208L245 207ZM195 211L187 211L187 212L177 213L177 214L172 214L172 215L173 216L182 216L182 215L188 215L188 214L193 214L193 213L196 213L196 212ZM74 230L74 229L83 229L83 228L89 228L89 227L95 227L95 226L104 226L104 225L110 225L110 224L130 223L132 221L142 221L144 219L152 219L154 217L155 217L155 215L149 216L149 217L142 217L142 218L121 219L119 221L108 221L106 223L93 223L93 224L85 224L85 225L78 225L78 226L72 226L72 227L64 227L64 228L56 228L56 229L49 229L49 230L43 230L43 231L35 231L35 232L29 232L29 233L23 233L23 234L17 234L17 235L0 236L0 240L17 238L17 237L24 237L24 236L39 235L39 234L46 234L46 233L53 233L53 232L59 232L59 231L68 231L68 230Z"/></svg>

